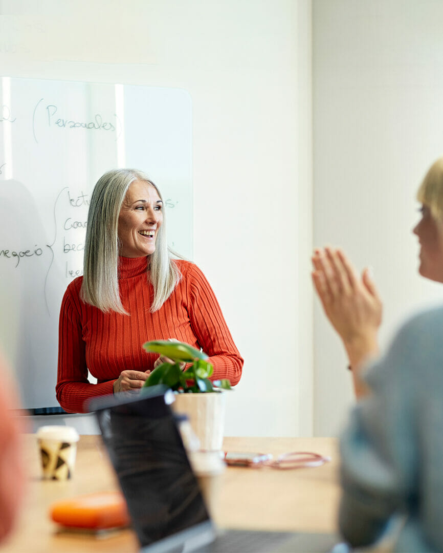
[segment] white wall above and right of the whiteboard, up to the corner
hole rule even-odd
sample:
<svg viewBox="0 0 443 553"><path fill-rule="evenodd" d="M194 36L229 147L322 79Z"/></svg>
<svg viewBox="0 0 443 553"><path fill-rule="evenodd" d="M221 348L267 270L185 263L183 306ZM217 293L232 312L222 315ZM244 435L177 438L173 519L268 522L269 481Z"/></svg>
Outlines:
<svg viewBox="0 0 443 553"><path fill-rule="evenodd" d="M245 357L230 435L312 427L310 4L0 2L3 75L191 94L194 260Z"/></svg>

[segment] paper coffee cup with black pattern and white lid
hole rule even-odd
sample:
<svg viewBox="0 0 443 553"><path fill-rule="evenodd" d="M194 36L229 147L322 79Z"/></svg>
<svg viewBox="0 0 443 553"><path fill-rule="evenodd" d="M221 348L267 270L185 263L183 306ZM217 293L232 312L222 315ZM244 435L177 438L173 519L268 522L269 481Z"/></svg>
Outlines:
<svg viewBox="0 0 443 553"><path fill-rule="evenodd" d="M72 477L78 439L78 432L72 426L41 426L38 429L37 441L45 480Z"/></svg>

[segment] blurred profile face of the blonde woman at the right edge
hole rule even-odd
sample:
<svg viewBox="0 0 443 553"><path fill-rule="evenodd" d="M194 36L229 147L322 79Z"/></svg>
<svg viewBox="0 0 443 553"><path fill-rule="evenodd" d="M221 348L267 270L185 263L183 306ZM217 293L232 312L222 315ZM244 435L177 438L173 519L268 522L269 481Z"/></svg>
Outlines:
<svg viewBox="0 0 443 553"><path fill-rule="evenodd" d="M436 219L426 205L420 211L421 219L413 229L420 244L419 273L443 283L443 221Z"/></svg>

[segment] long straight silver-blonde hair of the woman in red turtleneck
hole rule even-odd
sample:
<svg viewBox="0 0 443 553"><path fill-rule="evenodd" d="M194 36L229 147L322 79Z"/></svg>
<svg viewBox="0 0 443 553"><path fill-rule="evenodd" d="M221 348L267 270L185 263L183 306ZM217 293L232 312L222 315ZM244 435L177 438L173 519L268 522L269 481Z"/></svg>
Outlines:
<svg viewBox="0 0 443 553"><path fill-rule="evenodd" d="M92 192L88 211L83 283L80 297L103 312L125 311L118 285L118 216L126 192L132 182L141 180L160 190L147 176L135 169L113 169L98 179ZM163 200L162 200L163 201ZM146 277L154 287L151 312L158 311L181 279L181 273L171 257L166 241L165 213L157 233L155 252L150 255Z"/></svg>

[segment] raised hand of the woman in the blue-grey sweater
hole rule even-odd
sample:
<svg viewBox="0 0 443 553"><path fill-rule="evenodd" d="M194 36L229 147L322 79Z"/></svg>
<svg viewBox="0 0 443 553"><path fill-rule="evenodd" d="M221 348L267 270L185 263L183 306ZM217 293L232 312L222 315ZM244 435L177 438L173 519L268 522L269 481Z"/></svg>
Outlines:
<svg viewBox="0 0 443 553"><path fill-rule="evenodd" d="M312 278L326 316L341 337L351 367L378 353L377 332L382 302L366 268L360 276L346 255L316 249Z"/></svg>

